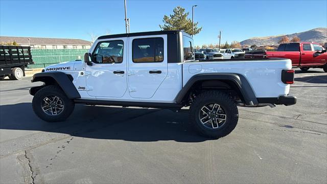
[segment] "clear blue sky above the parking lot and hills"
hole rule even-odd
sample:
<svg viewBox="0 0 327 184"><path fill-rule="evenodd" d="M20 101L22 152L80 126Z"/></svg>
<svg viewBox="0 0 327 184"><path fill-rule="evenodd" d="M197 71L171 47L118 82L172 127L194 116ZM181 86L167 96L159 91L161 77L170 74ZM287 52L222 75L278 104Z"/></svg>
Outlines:
<svg viewBox="0 0 327 184"><path fill-rule="evenodd" d="M327 27L327 1L132 1L127 0L131 32L159 30L176 6L203 27L195 44L242 41L250 37L290 34ZM125 33L124 1L3 1L0 35L80 38Z"/></svg>

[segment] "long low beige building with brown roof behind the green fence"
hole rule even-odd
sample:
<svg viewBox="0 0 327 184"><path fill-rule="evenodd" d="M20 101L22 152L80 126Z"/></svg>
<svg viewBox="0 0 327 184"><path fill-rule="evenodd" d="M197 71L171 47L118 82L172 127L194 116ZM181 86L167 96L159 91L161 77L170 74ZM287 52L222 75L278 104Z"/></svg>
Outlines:
<svg viewBox="0 0 327 184"><path fill-rule="evenodd" d="M32 49L90 49L91 47L90 41L82 39L0 36L0 43L13 41L20 46L30 46Z"/></svg>

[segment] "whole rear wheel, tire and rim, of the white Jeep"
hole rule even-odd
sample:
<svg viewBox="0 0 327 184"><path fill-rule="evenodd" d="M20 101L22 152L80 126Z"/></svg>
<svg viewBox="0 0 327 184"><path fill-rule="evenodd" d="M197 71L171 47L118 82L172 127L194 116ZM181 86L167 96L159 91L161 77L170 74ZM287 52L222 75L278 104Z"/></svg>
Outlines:
<svg viewBox="0 0 327 184"><path fill-rule="evenodd" d="M218 139L228 135L237 125L239 112L235 102L221 91L205 91L193 101L190 122L202 135Z"/></svg>

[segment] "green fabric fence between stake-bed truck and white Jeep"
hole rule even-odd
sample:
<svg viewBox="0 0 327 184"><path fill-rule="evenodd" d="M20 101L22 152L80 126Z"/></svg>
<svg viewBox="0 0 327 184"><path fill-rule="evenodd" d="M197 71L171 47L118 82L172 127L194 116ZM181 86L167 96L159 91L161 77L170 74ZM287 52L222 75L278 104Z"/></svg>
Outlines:
<svg viewBox="0 0 327 184"><path fill-rule="evenodd" d="M83 60L86 52L88 49L32 49L34 64L28 65L28 68L43 68L65 61Z"/></svg>

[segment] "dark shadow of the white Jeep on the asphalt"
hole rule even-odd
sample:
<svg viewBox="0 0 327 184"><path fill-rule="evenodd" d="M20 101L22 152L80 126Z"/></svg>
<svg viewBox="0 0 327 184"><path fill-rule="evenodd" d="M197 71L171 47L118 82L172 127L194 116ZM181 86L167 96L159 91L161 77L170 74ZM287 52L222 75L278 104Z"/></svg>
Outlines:
<svg viewBox="0 0 327 184"><path fill-rule="evenodd" d="M48 123L36 117L31 103L0 106L0 129L67 133L92 139L135 142L209 140L193 131L188 113L146 108L77 104L65 122Z"/></svg>

